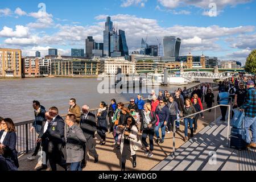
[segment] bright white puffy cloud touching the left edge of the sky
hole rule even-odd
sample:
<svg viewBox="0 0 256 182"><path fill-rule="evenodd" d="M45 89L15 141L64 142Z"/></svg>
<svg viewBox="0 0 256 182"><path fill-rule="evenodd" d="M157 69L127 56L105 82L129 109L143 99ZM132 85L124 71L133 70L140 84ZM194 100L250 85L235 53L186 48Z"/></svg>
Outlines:
<svg viewBox="0 0 256 182"><path fill-rule="evenodd" d="M15 31L13 28L3 27L3 30L0 31L0 37L16 37L16 38L26 38L28 37L28 27L24 27L22 25L17 25L15 27Z"/></svg>

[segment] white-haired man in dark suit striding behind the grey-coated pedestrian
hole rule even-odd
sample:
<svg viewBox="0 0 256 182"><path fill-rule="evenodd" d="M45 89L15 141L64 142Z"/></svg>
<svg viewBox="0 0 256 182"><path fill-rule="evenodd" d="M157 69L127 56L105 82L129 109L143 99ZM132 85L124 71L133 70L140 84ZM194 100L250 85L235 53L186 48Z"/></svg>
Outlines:
<svg viewBox="0 0 256 182"><path fill-rule="evenodd" d="M89 112L89 109L90 108L88 105L82 106L82 114L80 119L80 127L87 140L86 144L83 146L84 159L82 160L82 168L86 166L86 151L89 151L89 154L94 157L94 163L98 162L98 154L95 148L96 142L93 139L95 131L97 130L96 117L93 113Z"/></svg>

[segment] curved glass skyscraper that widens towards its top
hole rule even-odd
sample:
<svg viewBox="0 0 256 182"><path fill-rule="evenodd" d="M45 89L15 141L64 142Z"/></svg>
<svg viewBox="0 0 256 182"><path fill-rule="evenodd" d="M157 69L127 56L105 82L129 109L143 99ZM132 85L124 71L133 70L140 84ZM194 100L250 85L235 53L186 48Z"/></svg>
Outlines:
<svg viewBox="0 0 256 182"><path fill-rule="evenodd" d="M163 39L164 57L177 57L180 55L181 39L175 36L165 36Z"/></svg>

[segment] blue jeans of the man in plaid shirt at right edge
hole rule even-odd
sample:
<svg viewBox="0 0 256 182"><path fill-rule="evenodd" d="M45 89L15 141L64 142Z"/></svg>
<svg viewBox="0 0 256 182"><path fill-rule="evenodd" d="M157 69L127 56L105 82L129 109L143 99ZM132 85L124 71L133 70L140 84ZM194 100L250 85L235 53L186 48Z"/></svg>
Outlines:
<svg viewBox="0 0 256 182"><path fill-rule="evenodd" d="M256 117L255 118L245 117L245 129L246 129L246 142L256 143ZM250 138L249 129L251 129L253 138Z"/></svg>

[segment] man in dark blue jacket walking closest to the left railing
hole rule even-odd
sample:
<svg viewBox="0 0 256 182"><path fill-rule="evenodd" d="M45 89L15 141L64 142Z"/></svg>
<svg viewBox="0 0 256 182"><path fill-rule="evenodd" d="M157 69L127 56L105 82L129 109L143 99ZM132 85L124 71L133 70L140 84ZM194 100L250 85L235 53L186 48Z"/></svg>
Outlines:
<svg viewBox="0 0 256 182"><path fill-rule="evenodd" d="M34 120L34 122L32 124L30 132L32 132L35 129L36 133L38 135L40 135L41 130L42 130L43 122L46 121L46 117L45 117L46 108L44 106L41 106L39 101L33 101L32 106L34 108L35 120ZM41 145L40 142L36 143L35 151L32 154L32 156L27 158L28 160L35 160L36 155L38 155L38 151L40 149L40 145Z"/></svg>

